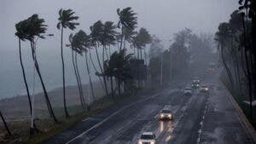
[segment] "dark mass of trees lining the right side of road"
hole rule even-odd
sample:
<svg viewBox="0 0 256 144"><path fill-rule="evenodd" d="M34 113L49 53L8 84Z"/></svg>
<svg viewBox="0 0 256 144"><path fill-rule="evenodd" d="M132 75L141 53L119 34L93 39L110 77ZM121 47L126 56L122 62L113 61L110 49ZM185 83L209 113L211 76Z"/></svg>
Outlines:
<svg viewBox="0 0 256 144"><path fill-rule="evenodd" d="M240 0L230 20L218 26L215 40L224 66L221 80L256 127L255 2Z"/></svg>

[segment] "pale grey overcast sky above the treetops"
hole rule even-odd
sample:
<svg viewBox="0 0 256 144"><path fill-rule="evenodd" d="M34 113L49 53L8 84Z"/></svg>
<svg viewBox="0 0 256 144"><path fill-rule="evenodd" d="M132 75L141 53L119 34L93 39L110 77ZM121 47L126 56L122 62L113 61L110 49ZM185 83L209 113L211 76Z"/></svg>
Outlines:
<svg viewBox="0 0 256 144"><path fill-rule="evenodd" d="M31 14L39 14L49 25L49 33L58 34L55 25L59 9L73 9L80 26L88 32L96 20L117 21L116 9L132 7L138 14L138 27L162 39L170 39L184 27L194 32L215 32L219 22L229 19L237 9L237 0L1 0L1 49L15 46L15 23ZM3 37L4 35L4 37ZM10 47L11 46L11 47ZM8 48L6 48L8 47Z"/></svg>

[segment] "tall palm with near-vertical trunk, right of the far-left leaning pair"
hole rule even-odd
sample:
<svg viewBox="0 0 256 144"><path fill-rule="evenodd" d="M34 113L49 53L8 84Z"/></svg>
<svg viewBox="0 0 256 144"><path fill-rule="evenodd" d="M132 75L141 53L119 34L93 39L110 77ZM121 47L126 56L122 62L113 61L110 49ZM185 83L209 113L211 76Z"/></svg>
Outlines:
<svg viewBox="0 0 256 144"><path fill-rule="evenodd" d="M69 28L70 30L74 30L79 23L74 22L74 20L78 20L79 16L74 16L74 12L72 9L60 9L59 10L59 22L57 24L57 28L61 30L61 62L62 62L62 81L63 81L63 101L64 101L64 111L66 117L69 117L67 112L67 102L66 102L66 85L65 85L65 64L63 58L63 30L64 28Z"/></svg>

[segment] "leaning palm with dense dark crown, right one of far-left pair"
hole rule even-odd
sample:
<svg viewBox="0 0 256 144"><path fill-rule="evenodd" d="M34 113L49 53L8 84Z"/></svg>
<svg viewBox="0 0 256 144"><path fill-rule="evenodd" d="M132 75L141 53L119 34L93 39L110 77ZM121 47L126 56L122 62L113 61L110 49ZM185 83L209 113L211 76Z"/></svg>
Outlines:
<svg viewBox="0 0 256 144"><path fill-rule="evenodd" d="M24 38L24 40L28 40L30 42L31 50L32 50L32 60L34 62L36 72L38 73L40 83L44 90L44 97L45 97L45 101L46 101L47 108L49 111L49 115L52 118L54 118L55 123L58 123L58 120L55 117L55 113L53 112L53 109L52 109L50 101L49 101L49 95L48 95L47 90L44 85L44 80L43 80L42 74L40 72L40 68L38 65L38 59L37 59L37 55L36 55L36 49L37 49L36 42L37 42L38 38L44 38L43 34L46 32L47 26L44 25L44 19L38 18L38 14L33 14L27 20L24 20L24 23L25 23L25 26L22 26L22 28L20 30L23 35L22 37Z"/></svg>

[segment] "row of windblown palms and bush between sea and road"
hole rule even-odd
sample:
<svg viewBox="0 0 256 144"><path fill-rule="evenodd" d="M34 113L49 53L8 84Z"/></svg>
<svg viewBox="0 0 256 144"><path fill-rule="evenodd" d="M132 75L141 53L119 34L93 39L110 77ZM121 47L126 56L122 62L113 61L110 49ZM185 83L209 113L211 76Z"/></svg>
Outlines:
<svg viewBox="0 0 256 144"><path fill-rule="evenodd" d="M101 20L97 20L92 26L88 28L90 33L86 33L87 31L85 32L85 28L85 30L79 30L74 34L70 33L68 38L69 42L64 40L66 39L65 37L67 37L64 32L66 32L66 29L71 30L69 32L76 30L77 26L79 26L79 16L76 15L73 9L60 9L58 14L59 18L56 24L56 28L61 31L61 55L56 55L56 58L59 57L61 59L62 71L60 76L62 78L62 111L64 112L64 116L59 115L60 108L53 106L51 97L54 95L49 95L49 90L44 84L44 74L42 73L38 62L38 55L40 55L38 54L38 49L42 49L38 41L47 41L48 37L57 36L54 36L54 34L48 32L48 26L45 23L45 20L38 14L32 14L32 16L25 20L20 20L15 25L15 36L18 38L20 54L20 66L26 89L27 105L29 107L30 113L30 122L25 120L20 126L26 125L29 128L27 128L29 130L29 135L32 137L37 137L37 135L42 135L42 133L45 133L45 131L42 130L42 126L44 129L48 129L49 127L53 127L52 124L55 124L56 130L63 130L74 122L77 122L79 118L84 118L88 113L94 113L97 109L102 109L105 105L109 106L108 101L111 100L112 102L110 103L113 103L114 101L119 100L121 95L124 96L135 94L137 89L143 88L143 83L146 81L146 79L143 78L133 77L134 73L142 70L131 72L131 69L135 68L131 66L131 62L132 60L144 61L145 57L143 57L143 49L146 49L148 43L151 42L151 36L147 29L143 27L138 29L137 32L137 14L130 7L125 9L117 9L117 16L119 21L116 21L116 23L113 21L102 22ZM31 76L26 73L25 67L27 64L23 62L22 58L29 55L22 55L22 49L25 49L22 48L22 43L29 43L30 45L30 49L32 51L32 62L34 64L36 75L34 74ZM119 48L119 50L113 51L112 48L116 47ZM133 48L134 53L128 54L128 48ZM65 76L65 63L67 61L63 55L63 51L66 50L71 50L72 52L71 56L73 71L77 80L80 109L82 110L79 112L79 118L76 118L78 112L73 112L73 114L71 114L72 107L67 107L68 95L66 90L67 82ZM138 55L137 57L135 56L136 51ZM99 52L102 52L102 54ZM144 52L146 53L146 51ZM83 71L82 68L78 65L80 62L79 57L84 57L85 59L84 66L86 69ZM96 57L96 61L92 57ZM142 65L144 66L144 64ZM81 74L86 74L89 78L89 81L82 82L80 77ZM91 80L92 75L96 75L98 77L98 80L100 84L102 84L102 88L105 91L105 94L100 96L101 98L95 94L95 90L98 89L95 89L93 85ZM45 106L49 112L49 118L53 120L53 123L49 123L49 118L44 118L45 123L42 119L38 120L38 117L35 114L35 107L37 106L35 106L34 95L32 95L33 88L28 86L29 84L27 84L28 82L26 80L27 77L39 78L39 82L44 92ZM90 85L90 89L87 93L84 92L82 84ZM100 108L96 108L94 106L96 105L96 101L107 100L107 98L108 101L101 101L102 104L100 105ZM4 135L8 135L7 137L10 139L13 138L15 141L15 139L19 139L19 137L22 137L22 135L24 136L24 134L15 133L17 130L13 130L14 127L11 126L9 128L9 124L7 124L3 114L4 112L0 113L1 119L3 121L3 128L7 132L3 133L3 137ZM13 133L13 131L15 132ZM49 131L47 133L49 133Z"/></svg>

